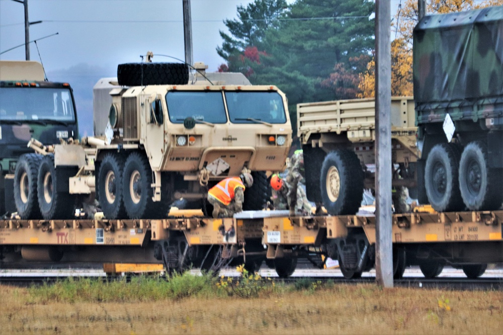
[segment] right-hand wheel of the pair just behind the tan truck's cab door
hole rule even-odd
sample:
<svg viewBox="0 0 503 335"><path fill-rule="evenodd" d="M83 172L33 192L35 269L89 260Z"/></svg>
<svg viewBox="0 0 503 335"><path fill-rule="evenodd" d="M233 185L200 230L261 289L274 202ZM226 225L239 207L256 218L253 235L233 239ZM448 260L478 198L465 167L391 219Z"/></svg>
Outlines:
<svg viewBox="0 0 503 335"><path fill-rule="evenodd" d="M123 173L123 194L126 212L131 219L162 218L169 208L152 200L152 170L148 159L137 152L126 159ZM165 194L162 194L165 195ZM161 195L161 198L163 196ZM165 197L165 196L164 196Z"/></svg>

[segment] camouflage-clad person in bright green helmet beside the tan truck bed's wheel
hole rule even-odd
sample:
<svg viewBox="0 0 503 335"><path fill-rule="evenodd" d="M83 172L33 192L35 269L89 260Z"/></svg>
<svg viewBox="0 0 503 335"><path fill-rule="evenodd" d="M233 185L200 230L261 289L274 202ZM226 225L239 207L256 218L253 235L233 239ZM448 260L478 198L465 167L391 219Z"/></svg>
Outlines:
<svg viewBox="0 0 503 335"><path fill-rule="evenodd" d="M286 176L286 183L289 186L288 189L288 205L290 208L290 216L295 215L295 205L299 202L299 200L303 203L303 205L299 207L306 207L306 204L309 204L309 201L307 200L306 193L302 187L298 187L299 182L302 182L304 180L304 174L305 174L305 169L304 169L304 155L302 153L302 150L296 150L290 160L288 161L287 164L288 168L288 173ZM299 197L299 190L301 196ZM309 204L309 212L311 205ZM316 203L316 214L321 213L321 204Z"/></svg>

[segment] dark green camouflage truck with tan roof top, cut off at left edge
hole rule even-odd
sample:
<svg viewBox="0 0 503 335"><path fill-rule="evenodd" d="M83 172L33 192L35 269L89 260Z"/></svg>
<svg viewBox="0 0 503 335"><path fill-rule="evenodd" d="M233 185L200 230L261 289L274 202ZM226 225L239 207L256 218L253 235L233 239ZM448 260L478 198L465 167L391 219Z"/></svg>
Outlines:
<svg viewBox="0 0 503 335"><path fill-rule="evenodd" d="M70 85L44 78L38 62L0 61L0 215L16 211L14 199L28 194L33 174L26 167L40 158L26 145L31 138L46 144L78 138ZM13 192L15 178L21 192Z"/></svg>

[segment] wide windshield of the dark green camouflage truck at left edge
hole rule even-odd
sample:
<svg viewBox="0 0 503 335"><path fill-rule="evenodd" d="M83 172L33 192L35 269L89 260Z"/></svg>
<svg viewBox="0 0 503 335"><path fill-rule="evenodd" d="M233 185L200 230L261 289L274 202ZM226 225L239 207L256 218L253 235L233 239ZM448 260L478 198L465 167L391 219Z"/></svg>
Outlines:
<svg viewBox="0 0 503 335"><path fill-rule="evenodd" d="M0 120L74 122L68 88L0 87Z"/></svg>

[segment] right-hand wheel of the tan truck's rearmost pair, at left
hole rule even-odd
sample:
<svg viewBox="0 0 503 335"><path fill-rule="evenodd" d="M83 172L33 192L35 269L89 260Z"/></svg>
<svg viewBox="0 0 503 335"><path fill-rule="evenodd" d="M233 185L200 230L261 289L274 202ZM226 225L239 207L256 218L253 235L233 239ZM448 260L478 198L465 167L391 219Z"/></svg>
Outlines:
<svg viewBox="0 0 503 335"><path fill-rule="evenodd" d="M45 220L59 220L73 217L75 196L69 192L57 192L54 155L44 156L37 178L38 203Z"/></svg>

